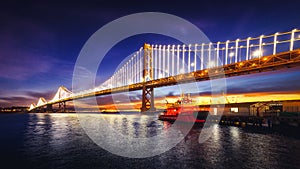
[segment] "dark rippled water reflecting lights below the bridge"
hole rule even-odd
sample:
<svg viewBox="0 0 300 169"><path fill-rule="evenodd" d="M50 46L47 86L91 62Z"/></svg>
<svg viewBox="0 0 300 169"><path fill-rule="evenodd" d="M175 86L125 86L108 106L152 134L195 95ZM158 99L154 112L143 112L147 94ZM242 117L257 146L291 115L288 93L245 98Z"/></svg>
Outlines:
<svg viewBox="0 0 300 169"><path fill-rule="evenodd" d="M153 116L105 115L105 119L132 137L151 137L170 127ZM300 168L297 138L215 125L212 136L199 144L200 131L194 127L158 156L126 158L97 146L76 114L0 114L0 168Z"/></svg>

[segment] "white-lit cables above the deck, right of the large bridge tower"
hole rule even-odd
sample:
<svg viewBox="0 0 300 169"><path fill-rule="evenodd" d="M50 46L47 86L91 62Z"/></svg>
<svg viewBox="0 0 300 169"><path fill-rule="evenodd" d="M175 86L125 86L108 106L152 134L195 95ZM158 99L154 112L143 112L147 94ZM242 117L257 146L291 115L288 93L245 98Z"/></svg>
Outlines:
<svg viewBox="0 0 300 169"><path fill-rule="evenodd" d="M300 48L300 30L209 44L152 45L154 79Z"/></svg>

